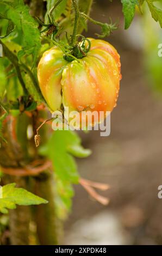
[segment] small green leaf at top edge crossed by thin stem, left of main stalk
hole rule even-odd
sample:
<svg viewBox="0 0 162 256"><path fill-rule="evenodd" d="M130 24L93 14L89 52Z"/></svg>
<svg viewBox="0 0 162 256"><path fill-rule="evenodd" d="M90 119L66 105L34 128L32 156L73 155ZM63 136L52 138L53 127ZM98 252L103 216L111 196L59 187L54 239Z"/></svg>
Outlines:
<svg viewBox="0 0 162 256"><path fill-rule="evenodd" d="M49 23L48 21L48 13L51 10L51 8L54 6L54 4L57 2L57 0L47 0L47 13L45 15L45 22ZM66 9L67 0L63 0L55 10L53 10L52 15L55 20L58 20L61 14L65 12Z"/></svg>

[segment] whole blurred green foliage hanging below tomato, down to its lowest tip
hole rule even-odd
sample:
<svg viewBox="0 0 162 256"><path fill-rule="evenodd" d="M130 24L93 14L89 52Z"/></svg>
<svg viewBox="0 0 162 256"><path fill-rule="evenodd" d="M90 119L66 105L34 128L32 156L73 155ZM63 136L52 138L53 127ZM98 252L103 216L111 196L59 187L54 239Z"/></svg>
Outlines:
<svg viewBox="0 0 162 256"><path fill-rule="evenodd" d="M55 131L48 143L40 148L40 154L52 160L57 181L57 204L60 217L65 217L71 206L73 196L72 184L77 184L79 174L73 156L88 157L89 149L84 149L77 133L72 131ZM73 156L72 156L73 155ZM61 210L60 210L61 208Z"/></svg>

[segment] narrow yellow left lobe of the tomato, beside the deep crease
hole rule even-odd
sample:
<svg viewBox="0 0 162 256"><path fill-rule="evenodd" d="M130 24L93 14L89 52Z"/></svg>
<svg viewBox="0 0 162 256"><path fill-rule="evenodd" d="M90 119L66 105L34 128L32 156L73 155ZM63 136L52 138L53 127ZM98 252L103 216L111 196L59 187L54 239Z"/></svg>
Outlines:
<svg viewBox="0 0 162 256"><path fill-rule="evenodd" d="M39 86L51 111L61 107L61 78L67 63L63 58L63 52L53 47L43 53L38 64Z"/></svg>

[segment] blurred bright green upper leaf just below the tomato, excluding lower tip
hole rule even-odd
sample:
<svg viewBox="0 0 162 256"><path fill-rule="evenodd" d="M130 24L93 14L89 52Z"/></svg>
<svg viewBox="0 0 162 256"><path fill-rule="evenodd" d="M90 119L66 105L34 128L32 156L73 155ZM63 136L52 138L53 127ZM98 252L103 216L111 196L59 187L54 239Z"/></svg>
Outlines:
<svg viewBox="0 0 162 256"><path fill-rule="evenodd" d="M52 160L54 172L61 180L78 182L77 166L71 154L77 157L87 157L91 154L91 151L84 150L80 143L77 133L57 130L53 132L46 147L40 150L41 154Z"/></svg>

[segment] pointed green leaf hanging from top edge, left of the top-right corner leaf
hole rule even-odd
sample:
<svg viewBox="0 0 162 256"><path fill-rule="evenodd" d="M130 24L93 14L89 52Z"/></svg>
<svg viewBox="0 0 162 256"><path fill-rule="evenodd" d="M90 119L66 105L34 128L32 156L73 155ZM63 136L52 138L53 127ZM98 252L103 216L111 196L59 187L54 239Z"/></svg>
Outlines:
<svg viewBox="0 0 162 256"><path fill-rule="evenodd" d="M125 29L129 28L135 14L135 5L138 4L138 0L121 0L123 8L122 12L125 19Z"/></svg>

